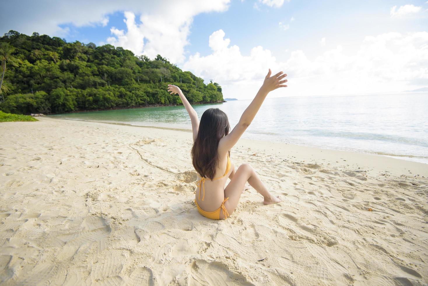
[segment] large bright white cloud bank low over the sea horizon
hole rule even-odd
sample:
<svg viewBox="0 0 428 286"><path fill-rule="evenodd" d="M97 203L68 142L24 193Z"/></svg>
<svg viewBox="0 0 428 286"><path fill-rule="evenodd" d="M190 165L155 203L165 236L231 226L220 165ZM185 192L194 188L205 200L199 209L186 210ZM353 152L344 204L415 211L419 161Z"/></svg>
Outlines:
<svg viewBox="0 0 428 286"><path fill-rule="evenodd" d="M428 85L428 33L385 33L367 36L357 52L341 45L310 59L304 51L292 51L278 62L268 49L257 46L250 55L224 39L223 30L209 39L212 54L190 56L182 68L213 79L224 97L251 98L268 71L288 74L288 88L271 96L398 92Z"/></svg>

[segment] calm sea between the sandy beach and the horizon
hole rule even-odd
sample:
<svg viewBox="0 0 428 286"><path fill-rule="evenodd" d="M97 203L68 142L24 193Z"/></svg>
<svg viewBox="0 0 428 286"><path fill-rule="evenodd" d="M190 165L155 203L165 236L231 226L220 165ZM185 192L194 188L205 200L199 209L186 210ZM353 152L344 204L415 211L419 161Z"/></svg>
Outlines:
<svg viewBox="0 0 428 286"><path fill-rule="evenodd" d="M231 128L250 100L196 104L217 107ZM191 129L183 106L53 115L68 119ZM428 93L266 98L244 138L376 153L428 164Z"/></svg>

